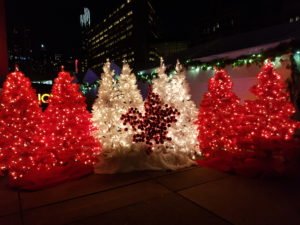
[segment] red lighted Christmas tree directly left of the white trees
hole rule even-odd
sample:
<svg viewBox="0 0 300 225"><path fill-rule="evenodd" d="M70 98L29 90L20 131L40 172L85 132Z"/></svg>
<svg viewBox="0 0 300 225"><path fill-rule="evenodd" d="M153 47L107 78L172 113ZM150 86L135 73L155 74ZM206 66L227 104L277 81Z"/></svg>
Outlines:
<svg viewBox="0 0 300 225"><path fill-rule="evenodd" d="M45 110L47 143L56 159L55 165L79 162L92 165L100 153L100 143L91 135L91 114L79 85L67 72L60 72L52 88L52 96Z"/></svg>

